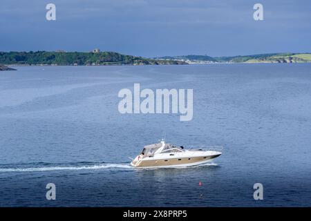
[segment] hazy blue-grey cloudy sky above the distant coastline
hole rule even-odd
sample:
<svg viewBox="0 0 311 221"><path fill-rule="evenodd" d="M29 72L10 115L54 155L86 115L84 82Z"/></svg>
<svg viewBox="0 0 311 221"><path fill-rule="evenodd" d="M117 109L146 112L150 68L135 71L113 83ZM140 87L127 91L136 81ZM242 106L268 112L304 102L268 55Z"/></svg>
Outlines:
<svg viewBox="0 0 311 221"><path fill-rule="evenodd" d="M56 20L46 19L46 5ZM263 5L263 21L253 18ZM1 0L0 51L233 56L311 52L310 0Z"/></svg>

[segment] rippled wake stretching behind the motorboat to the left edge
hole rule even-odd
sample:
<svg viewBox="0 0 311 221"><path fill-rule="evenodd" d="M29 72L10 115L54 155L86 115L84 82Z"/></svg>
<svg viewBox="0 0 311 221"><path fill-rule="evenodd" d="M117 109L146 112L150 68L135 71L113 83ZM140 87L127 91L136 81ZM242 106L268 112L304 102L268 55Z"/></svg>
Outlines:
<svg viewBox="0 0 311 221"><path fill-rule="evenodd" d="M46 164L39 163L30 166L29 164L13 166L11 165L0 165L0 173L8 172L44 172L44 171L79 171L79 170L104 170L104 169L133 169L129 163L122 164L109 164L109 163L78 163L74 165L70 164Z"/></svg>

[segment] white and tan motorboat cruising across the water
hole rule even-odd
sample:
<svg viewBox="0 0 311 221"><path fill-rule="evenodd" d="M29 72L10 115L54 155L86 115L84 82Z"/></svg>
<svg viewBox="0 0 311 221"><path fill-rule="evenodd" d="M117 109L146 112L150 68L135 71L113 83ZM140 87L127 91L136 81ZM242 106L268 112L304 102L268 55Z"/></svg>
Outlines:
<svg viewBox="0 0 311 221"><path fill-rule="evenodd" d="M218 150L219 149L219 150ZM189 149L183 146L165 144L162 139L158 144L144 146L140 155L131 162L137 168L185 167L211 162L222 154L222 147L217 150Z"/></svg>

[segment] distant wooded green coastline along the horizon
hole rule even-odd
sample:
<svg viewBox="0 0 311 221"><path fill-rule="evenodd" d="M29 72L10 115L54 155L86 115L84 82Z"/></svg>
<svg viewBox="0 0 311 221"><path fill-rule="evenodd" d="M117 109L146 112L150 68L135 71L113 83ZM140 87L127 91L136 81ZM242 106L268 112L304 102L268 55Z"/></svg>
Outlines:
<svg viewBox="0 0 311 221"><path fill-rule="evenodd" d="M256 63L310 63L311 53L271 53L210 57L208 55L180 55L165 57L137 57L117 52L0 52L0 70L15 70L6 66L137 66L180 64L256 64Z"/></svg>

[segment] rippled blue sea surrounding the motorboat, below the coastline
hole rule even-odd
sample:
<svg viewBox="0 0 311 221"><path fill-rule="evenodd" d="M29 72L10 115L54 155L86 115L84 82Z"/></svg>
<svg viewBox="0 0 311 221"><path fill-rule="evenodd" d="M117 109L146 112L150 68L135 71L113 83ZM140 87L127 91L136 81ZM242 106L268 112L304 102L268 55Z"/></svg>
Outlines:
<svg viewBox="0 0 311 221"><path fill-rule="evenodd" d="M0 73L0 206L311 206L310 64L17 69ZM134 83L193 88L194 118L121 115L117 93ZM163 131L224 154L188 169L131 168L128 157Z"/></svg>

